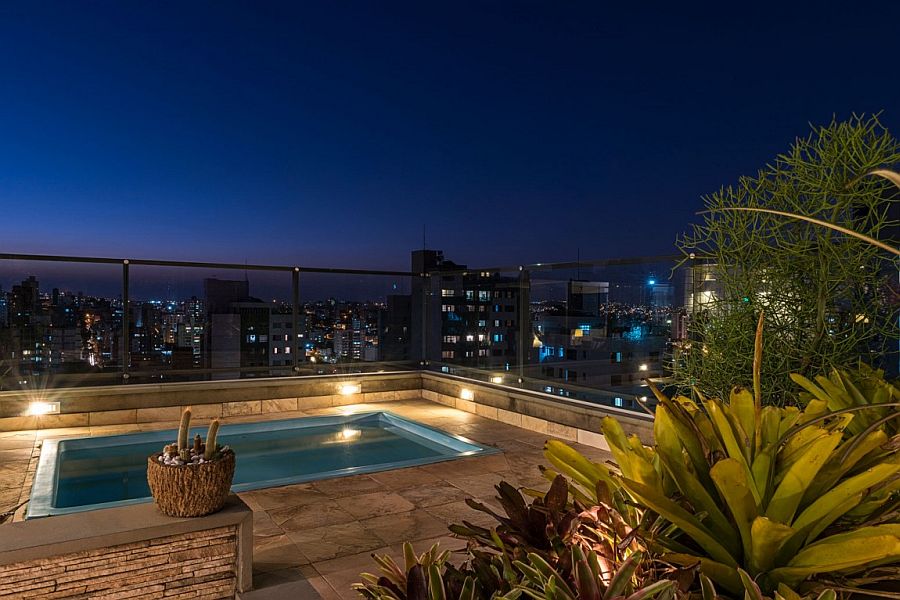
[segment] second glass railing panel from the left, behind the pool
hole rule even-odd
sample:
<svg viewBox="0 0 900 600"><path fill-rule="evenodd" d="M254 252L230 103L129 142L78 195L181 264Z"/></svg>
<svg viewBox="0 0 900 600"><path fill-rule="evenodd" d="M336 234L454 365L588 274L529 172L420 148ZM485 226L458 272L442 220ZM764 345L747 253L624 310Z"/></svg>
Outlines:
<svg viewBox="0 0 900 600"><path fill-rule="evenodd" d="M293 363L276 354L291 279L288 270L131 265L129 383L291 375Z"/></svg>

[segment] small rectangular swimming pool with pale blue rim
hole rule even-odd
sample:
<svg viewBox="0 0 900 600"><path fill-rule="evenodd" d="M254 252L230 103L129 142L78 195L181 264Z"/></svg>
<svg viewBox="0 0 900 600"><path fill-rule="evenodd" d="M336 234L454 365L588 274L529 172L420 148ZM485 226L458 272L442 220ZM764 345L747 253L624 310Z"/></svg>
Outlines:
<svg viewBox="0 0 900 600"><path fill-rule="evenodd" d="M45 440L27 518L151 501L147 457L176 435ZM235 492L497 452L389 412L223 425L219 440L237 455Z"/></svg>

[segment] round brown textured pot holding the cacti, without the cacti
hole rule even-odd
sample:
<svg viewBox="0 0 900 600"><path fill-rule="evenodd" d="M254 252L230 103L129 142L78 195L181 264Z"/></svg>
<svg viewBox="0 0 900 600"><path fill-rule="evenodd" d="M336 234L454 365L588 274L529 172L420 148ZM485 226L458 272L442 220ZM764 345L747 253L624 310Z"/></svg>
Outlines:
<svg viewBox="0 0 900 600"><path fill-rule="evenodd" d="M163 514L202 517L222 509L234 477L234 452L202 464L166 465L159 457L147 459L147 482Z"/></svg>

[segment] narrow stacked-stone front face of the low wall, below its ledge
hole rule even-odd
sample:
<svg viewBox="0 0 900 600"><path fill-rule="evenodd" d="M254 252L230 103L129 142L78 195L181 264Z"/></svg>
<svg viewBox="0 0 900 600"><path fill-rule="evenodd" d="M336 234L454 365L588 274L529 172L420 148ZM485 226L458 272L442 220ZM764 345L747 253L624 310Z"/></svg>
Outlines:
<svg viewBox="0 0 900 600"><path fill-rule="evenodd" d="M0 598L234 598L238 527L0 565Z"/></svg>

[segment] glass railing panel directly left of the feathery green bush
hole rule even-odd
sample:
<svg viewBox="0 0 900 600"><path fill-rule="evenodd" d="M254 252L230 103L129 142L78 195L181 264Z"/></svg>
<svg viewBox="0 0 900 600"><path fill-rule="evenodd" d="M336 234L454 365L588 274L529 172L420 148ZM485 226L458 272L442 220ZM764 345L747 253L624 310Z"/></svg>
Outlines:
<svg viewBox="0 0 900 600"><path fill-rule="evenodd" d="M533 344L526 377L541 391L652 404L645 380L666 375L683 325L684 273L650 259L529 268Z"/></svg>

